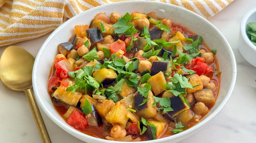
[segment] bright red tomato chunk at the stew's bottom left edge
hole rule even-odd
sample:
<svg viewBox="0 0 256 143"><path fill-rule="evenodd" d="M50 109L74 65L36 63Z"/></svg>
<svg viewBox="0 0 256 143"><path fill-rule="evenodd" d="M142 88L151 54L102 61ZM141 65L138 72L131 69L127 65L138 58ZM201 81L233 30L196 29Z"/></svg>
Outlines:
<svg viewBox="0 0 256 143"><path fill-rule="evenodd" d="M67 119L67 123L70 126L73 126L75 129L81 131L85 130L88 126L87 119L78 110L74 110L71 112L69 118Z"/></svg>

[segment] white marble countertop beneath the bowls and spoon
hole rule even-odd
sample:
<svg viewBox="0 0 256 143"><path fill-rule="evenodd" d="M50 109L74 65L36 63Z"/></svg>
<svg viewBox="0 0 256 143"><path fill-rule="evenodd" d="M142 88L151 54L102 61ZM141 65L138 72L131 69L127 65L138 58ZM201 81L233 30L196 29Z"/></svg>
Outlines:
<svg viewBox="0 0 256 143"><path fill-rule="evenodd" d="M180 143L255 142L256 68L250 65L238 50L240 22L245 13L255 7L255 0L234 0L221 12L208 19L221 31L232 47L237 62L236 84L221 112L198 133ZM49 35L50 33L12 45L23 47L36 56ZM0 55L7 47L0 47ZM39 109L53 143L83 143L58 127L40 107ZM25 93L6 88L2 82L0 82L0 142L41 142Z"/></svg>

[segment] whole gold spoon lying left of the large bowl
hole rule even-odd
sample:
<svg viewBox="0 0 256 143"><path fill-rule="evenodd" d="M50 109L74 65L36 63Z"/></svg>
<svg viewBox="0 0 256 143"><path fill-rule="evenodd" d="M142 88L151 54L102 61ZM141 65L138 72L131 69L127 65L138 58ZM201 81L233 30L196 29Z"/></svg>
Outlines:
<svg viewBox="0 0 256 143"><path fill-rule="evenodd" d="M25 92L42 142L51 143L51 139L31 91L34 60L35 58L25 49L10 46L5 49L0 59L0 77L4 85L10 89Z"/></svg>

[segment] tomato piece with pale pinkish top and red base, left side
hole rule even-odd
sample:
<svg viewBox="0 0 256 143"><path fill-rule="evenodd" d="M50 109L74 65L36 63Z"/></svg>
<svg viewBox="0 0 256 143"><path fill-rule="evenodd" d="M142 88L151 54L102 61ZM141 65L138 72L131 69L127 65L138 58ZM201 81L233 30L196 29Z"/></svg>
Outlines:
<svg viewBox="0 0 256 143"><path fill-rule="evenodd" d="M69 71L73 70L72 65L65 57L61 57L55 61L56 73L60 74L61 78L69 78Z"/></svg>

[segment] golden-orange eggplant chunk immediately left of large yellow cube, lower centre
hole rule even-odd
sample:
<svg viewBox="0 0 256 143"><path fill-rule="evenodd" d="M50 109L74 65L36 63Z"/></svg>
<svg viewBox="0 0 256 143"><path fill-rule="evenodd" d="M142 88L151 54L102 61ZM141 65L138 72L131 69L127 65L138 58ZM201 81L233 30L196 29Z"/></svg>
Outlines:
<svg viewBox="0 0 256 143"><path fill-rule="evenodd" d="M89 101L90 102L90 101ZM108 114L108 112L111 110L111 108L115 105L113 100L103 100L102 103L97 103L96 109L99 113L99 115L103 118L106 117L106 115Z"/></svg>

